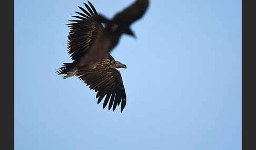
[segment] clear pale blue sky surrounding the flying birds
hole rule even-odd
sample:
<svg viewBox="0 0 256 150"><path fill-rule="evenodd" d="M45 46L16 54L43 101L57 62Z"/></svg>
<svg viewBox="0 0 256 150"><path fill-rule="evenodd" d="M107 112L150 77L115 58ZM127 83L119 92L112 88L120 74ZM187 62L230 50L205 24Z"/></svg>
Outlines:
<svg viewBox="0 0 256 150"><path fill-rule="evenodd" d="M111 53L127 66L123 113L55 73L83 2L15 1L16 150L241 149L241 1L151 0ZM134 1L91 2L111 18Z"/></svg>

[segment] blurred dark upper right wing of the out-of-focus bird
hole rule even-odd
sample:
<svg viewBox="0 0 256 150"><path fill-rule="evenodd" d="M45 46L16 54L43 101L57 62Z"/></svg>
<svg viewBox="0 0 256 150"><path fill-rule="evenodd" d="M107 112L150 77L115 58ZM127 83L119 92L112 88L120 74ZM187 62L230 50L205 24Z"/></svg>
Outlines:
<svg viewBox="0 0 256 150"><path fill-rule="evenodd" d="M130 25L143 16L148 6L149 0L137 0L122 12L117 13L112 20Z"/></svg>

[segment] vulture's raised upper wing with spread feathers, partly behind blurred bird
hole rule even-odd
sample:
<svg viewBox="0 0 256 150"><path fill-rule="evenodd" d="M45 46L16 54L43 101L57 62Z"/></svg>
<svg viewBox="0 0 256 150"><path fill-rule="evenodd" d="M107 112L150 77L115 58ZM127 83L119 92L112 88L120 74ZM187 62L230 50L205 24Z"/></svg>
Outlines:
<svg viewBox="0 0 256 150"><path fill-rule="evenodd" d="M96 9L88 1L88 6L84 3L88 12L82 8L83 13L75 12L80 16L72 16L78 18L78 20L69 20L70 23L67 24L70 27L70 33L68 34L68 54L71 54L71 58L74 61L78 61L81 57L86 55L88 50L90 50L94 41L100 33L103 31L103 26L100 22L97 22L95 16L97 15Z"/></svg>

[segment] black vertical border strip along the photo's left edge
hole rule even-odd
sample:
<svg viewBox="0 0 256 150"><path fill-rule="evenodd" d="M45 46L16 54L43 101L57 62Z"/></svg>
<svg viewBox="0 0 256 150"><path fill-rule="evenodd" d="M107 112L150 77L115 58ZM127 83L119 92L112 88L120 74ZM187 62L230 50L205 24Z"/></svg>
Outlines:
<svg viewBox="0 0 256 150"><path fill-rule="evenodd" d="M14 149L14 1L1 11L1 149Z"/></svg>

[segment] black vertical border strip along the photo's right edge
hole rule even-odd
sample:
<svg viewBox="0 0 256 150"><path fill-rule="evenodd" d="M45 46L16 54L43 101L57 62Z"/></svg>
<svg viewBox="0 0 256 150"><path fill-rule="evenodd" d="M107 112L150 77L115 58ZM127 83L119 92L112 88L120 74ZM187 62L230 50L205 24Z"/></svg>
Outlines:
<svg viewBox="0 0 256 150"><path fill-rule="evenodd" d="M245 3L246 2L246 3ZM249 3L251 2L251 3ZM242 1L242 149L255 146L255 5ZM253 148L254 147L254 148Z"/></svg>

